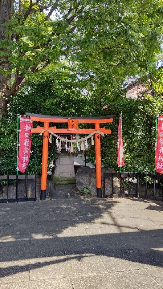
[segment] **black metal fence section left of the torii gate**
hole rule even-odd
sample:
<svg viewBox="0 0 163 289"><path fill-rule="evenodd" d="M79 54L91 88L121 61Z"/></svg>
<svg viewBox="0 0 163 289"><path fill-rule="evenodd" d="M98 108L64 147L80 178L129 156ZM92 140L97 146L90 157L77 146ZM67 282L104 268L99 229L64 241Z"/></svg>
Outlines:
<svg viewBox="0 0 163 289"><path fill-rule="evenodd" d="M29 180L33 180L33 186L30 190L30 196L28 192ZM21 182L21 188L19 186L19 181ZM36 201L35 175L0 176L0 203L10 203L18 201Z"/></svg>

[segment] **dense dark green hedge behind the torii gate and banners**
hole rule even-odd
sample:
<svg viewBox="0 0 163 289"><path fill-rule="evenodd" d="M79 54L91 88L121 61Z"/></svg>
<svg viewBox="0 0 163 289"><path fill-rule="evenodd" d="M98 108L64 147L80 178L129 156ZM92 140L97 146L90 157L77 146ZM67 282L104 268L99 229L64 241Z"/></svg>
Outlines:
<svg viewBox="0 0 163 289"><path fill-rule="evenodd" d="M149 77L150 76L150 77ZM90 85L85 79L68 68L45 70L33 78L29 85L18 93L8 109L8 118L0 123L0 174L14 174L16 168L16 115L25 112L52 115L115 115L112 135L102 138L102 164L117 168L118 118L123 115L123 139L125 164L123 171L154 171L155 120L163 107L163 69L153 69L142 83L153 92L139 99L128 99L125 90L108 90L100 82ZM84 89L85 88L85 89ZM103 108L105 107L105 109ZM36 125L36 124L34 124ZM40 174L42 138L32 136L32 155L29 173ZM56 158L55 143L50 145L49 164ZM87 152L94 163L94 147Z"/></svg>

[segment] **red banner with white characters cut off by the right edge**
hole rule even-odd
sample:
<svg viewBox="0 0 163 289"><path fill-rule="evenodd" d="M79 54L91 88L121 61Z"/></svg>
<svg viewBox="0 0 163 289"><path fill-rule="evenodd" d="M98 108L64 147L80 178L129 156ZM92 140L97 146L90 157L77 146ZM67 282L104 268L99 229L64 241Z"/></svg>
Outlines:
<svg viewBox="0 0 163 289"><path fill-rule="evenodd" d="M155 169L163 174L163 115L158 117Z"/></svg>

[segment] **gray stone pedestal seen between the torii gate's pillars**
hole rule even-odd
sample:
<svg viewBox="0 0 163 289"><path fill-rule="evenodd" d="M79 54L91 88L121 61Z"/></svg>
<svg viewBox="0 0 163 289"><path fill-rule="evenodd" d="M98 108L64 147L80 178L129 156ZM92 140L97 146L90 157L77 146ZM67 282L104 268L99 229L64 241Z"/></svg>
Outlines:
<svg viewBox="0 0 163 289"><path fill-rule="evenodd" d="M76 183L74 169L74 157L77 154L62 152L56 161L53 181L55 185L66 185Z"/></svg>

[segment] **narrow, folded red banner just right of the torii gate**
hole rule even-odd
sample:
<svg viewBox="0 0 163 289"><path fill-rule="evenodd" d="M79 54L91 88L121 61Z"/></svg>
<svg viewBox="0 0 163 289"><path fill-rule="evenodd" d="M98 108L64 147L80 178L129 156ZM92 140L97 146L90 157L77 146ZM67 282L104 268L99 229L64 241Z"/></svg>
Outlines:
<svg viewBox="0 0 163 289"><path fill-rule="evenodd" d="M118 165L118 167L122 167L125 165L125 163L124 163L124 147L123 147L123 139L122 139L122 114L120 114L119 124L118 124L117 165Z"/></svg>

